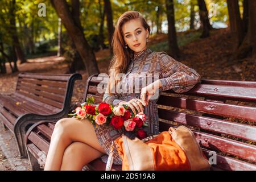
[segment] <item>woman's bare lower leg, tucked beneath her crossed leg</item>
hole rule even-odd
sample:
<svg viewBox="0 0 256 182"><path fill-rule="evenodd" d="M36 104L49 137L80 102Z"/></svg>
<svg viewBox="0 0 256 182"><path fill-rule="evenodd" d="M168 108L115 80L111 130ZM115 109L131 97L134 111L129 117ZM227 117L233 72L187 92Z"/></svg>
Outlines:
<svg viewBox="0 0 256 182"><path fill-rule="evenodd" d="M88 144L73 142L64 152L60 170L81 171L82 167L100 156L102 153Z"/></svg>

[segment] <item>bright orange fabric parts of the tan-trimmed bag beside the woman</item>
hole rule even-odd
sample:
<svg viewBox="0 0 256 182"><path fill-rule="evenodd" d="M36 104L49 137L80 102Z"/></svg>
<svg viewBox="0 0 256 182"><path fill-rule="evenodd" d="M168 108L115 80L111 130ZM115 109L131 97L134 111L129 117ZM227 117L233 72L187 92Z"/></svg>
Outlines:
<svg viewBox="0 0 256 182"><path fill-rule="evenodd" d="M122 137L115 140L117 151L122 159L122 170L129 170L127 156L123 149ZM168 131L160 133L157 137L145 142L150 146L154 168L158 170L190 170L190 164L185 152L174 142ZM139 156L138 156L139 160Z"/></svg>

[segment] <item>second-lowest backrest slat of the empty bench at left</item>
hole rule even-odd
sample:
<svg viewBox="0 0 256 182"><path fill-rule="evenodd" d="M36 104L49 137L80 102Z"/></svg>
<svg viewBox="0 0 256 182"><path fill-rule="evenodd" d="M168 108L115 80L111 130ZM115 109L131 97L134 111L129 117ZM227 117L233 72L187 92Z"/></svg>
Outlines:
<svg viewBox="0 0 256 182"><path fill-rule="evenodd" d="M28 93L34 93L34 94L38 94L38 96L42 96L44 98L49 98L50 100L54 100L57 102L63 102L64 101L64 96L60 96L59 94L53 94L53 93L48 93L48 92L41 92L38 90L34 90L32 88L26 88L23 86L17 86L17 90L19 90L20 92L28 92Z"/></svg>

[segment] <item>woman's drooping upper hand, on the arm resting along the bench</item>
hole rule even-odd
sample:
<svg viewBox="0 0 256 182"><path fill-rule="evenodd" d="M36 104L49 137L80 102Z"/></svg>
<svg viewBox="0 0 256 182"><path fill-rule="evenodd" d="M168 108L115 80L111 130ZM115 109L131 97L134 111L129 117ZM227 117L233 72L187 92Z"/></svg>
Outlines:
<svg viewBox="0 0 256 182"><path fill-rule="evenodd" d="M155 82L152 82L152 84L149 84L141 89L141 100L145 106L148 105L150 97L154 96L156 91L161 86L162 86L162 83L160 82L160 80L156 80Z"/></svg>

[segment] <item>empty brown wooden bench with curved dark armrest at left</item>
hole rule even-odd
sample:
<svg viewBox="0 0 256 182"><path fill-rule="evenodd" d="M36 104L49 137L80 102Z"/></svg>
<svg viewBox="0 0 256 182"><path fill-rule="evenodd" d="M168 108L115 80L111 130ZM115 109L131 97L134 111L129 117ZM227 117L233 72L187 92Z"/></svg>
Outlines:
<svg viewBox="0 0 256 182"><path fill-rule="evenodd" d="M21 157L27 156L24 136L32 124L67 115L77 79L79 73L19 73L15 92L0 94L0 121L15 135Z"/></svg>

